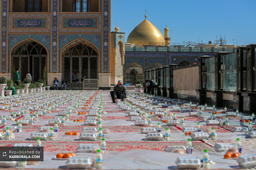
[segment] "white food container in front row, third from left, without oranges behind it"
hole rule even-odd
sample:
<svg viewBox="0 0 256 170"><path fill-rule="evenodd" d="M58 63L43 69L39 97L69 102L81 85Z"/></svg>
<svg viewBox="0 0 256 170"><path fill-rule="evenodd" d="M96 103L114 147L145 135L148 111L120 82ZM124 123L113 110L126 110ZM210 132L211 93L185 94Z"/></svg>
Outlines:
<svg viewBox="0 0 256 170"><path fill-rule="evenodd" d="M201 160L198 157L178 157L176 162L178 169L198 169Z"/></svg>

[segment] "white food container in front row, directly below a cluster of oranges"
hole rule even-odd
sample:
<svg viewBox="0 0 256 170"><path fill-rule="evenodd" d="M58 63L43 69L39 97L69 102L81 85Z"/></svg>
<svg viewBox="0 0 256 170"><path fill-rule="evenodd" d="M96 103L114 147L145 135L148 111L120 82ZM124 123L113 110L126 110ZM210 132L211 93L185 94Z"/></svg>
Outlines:
<svg viewBox="0 0 256 170"><path fill-rule="evenodd" d="M69 157L66 162L69 169L88 169L92 164L93 161L89 156Z"/></svg>

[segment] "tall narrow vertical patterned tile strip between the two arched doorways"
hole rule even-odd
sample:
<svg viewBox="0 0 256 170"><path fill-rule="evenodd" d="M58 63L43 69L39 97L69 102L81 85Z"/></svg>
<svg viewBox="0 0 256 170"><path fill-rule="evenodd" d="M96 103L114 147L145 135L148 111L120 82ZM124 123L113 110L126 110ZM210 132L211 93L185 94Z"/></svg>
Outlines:
<svg viewBox="0 0 256 170"><path fill-rule="evenodd" d="M52 0L52 72L57 72L57 59L58 59L58 0Z"/></svg>

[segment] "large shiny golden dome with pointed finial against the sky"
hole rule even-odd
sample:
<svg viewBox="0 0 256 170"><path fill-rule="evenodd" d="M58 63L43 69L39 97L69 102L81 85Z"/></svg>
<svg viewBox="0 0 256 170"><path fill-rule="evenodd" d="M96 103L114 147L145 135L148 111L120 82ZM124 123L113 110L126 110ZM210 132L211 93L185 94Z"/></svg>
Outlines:
<svg viewBox="0 0 256 170"><path fill-rule="evenodd" d="M135 45L165 45L163 34L146 19L143 20L127 38L127 43Z"/></svg>

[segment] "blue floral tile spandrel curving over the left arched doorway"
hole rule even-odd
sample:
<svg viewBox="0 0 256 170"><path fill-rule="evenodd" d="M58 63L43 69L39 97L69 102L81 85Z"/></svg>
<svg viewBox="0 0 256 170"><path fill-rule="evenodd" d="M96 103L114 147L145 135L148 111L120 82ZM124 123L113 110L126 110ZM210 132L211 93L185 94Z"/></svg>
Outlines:
<svg viewBox="0 0 256 170"><path fill-rule="evenodd" d="M15 45L26 39L36 40L44 44L48 52L50 52L50 34L12 34L9 35L9 54Z"/></svg>

